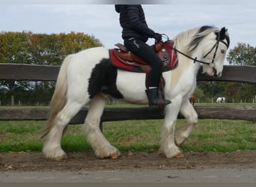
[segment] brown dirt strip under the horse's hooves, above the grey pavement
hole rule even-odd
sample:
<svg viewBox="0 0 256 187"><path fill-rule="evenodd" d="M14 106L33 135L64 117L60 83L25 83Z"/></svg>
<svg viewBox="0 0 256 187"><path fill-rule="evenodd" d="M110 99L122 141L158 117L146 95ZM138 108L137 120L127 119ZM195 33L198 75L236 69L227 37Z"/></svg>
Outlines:
<svg viewBox="0 0 256 187"><path fill-rule="evenodd" d="M157 152L122 153L119 159L97 159L94 153L67 153L67 160L44 159L42 153L0 153L0 171L152 171L256 168L256 150L231 153L185 153L166 159Z"/></svg>

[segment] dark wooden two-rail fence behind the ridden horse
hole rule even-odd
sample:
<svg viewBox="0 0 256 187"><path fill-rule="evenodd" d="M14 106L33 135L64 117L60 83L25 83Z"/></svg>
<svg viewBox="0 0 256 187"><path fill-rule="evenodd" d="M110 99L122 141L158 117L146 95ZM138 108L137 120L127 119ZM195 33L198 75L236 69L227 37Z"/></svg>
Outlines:
<svg viewBox="0 0 256 187"><path fill-rule="evenodd" d="M58 66L40 66L28 64L0 64L0 79L56 81ZM225 66L221 78L214 78L198 73L198 81L227 81L256 83L256 67ZM230 119L256 121L256 107L246 106L195 106L199 119ZM70 123L84 123L88 108L82 108ZM0 107L0 120L46 120L49 108L13 108ZM153 120L162 119L163 111L159 108L106 108L101 118L104 121L115 120ZM179 118L182 116L179 115Z"/></svg>

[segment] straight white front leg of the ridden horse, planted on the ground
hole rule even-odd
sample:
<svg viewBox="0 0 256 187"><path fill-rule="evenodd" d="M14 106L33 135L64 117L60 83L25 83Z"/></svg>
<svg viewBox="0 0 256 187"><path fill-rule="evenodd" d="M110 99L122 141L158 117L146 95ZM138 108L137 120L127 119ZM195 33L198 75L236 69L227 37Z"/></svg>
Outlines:
<svg viewBox="0 0 256 187"><path fill-rule="evenodd" d="M168 159L173 157L181 158L183 153L177 147L174 140L177 115L179 113L180 102L171 99L171 104L165 106L165 120L161 129L160 151Z"/></svg>

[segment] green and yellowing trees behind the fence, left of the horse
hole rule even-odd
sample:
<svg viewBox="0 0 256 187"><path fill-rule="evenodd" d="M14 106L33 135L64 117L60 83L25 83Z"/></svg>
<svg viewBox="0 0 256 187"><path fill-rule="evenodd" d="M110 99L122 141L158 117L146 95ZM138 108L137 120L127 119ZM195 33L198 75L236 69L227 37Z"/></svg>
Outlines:
<svg viewBox="0 0 256 187"><path fill-rule="evenodd" d="M71 54L91 47L102 46L100 40L84 33L71 32L70 34L33 34L28 32L1 32L0 33L0 63L12 64L42 64L60 65L64 58ZM52 89L53 88L53 89ZM51 82L16 82L0 81L0 89L14 104L14 93L17 99L29 102L46 102L52 95L54 86ZM22 92L23 91L23 92ZM31 95L38 94L37 101ZM29 96L28 96L29 95ZM3 102L2 102L3 103Z"/></svg>

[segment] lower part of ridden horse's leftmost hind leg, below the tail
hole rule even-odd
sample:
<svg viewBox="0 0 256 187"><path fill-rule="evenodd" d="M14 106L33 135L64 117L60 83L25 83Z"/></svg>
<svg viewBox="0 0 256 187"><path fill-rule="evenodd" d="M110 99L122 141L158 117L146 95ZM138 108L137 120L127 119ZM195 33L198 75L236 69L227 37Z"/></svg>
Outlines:
<svg viewBox="0 0 256 187"><path fill-rule="evenodd" d="M64 108L56 115L55 124L46 136L46 141L43 145L43 154L47 159L59 161L67 158L67 154L61 149L63 131L82 106L83 103L81 102L67 102Z"/></svg>

